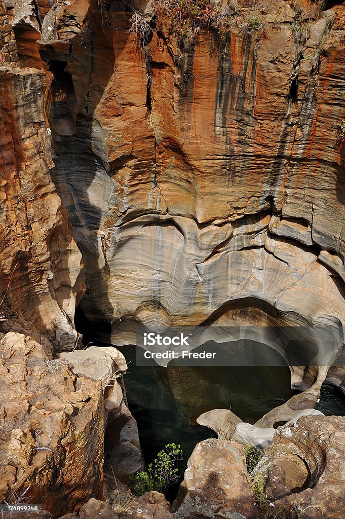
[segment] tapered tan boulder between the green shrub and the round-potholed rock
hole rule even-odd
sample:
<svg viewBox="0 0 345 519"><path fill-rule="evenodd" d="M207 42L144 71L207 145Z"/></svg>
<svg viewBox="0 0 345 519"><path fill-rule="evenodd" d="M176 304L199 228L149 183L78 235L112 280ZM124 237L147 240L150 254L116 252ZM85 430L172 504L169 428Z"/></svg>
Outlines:
<svg viewBox="0 0 345 519"><path fill-rule="evenodd" d="M172 511L177 519L257 517L244 447L236 442L218 446L216 440L198 443Z"/></svg>

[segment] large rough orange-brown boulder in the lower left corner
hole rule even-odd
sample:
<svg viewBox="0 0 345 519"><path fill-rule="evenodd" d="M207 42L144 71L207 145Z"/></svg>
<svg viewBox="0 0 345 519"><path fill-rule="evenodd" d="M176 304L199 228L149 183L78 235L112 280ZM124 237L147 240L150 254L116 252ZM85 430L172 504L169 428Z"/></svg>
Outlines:
<svg viewBox="0 0 345 519"><path fill-rule="evenodd" d="M54 517L79 508L101 491L101 384L17 333L0 340L0 370L0 501L25 492Z"/></svg>

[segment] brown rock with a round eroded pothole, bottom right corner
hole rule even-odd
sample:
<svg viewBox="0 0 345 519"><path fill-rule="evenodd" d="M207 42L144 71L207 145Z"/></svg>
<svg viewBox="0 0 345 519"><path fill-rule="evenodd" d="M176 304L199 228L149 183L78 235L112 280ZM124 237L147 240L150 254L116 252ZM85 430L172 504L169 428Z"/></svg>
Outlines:
<svg viewBox="0 0 345 519"><path fill-rule="evenodd" d="M306 519L345 517L343 417L303 416L281 427L259 463L267 497L304 511Z"/></svg>

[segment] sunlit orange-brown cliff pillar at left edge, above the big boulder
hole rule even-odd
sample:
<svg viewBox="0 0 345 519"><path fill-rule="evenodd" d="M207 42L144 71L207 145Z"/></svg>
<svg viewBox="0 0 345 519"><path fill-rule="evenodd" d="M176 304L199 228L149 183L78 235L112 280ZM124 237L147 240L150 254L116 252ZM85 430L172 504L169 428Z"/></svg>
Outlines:
<svg viewBox="0 0 345 519"><path fill-rule="evenodd" d="M72 349L82 259L51 181L45 88L43 72L0 70L1 324L42 335L48 349Z"/></svg>

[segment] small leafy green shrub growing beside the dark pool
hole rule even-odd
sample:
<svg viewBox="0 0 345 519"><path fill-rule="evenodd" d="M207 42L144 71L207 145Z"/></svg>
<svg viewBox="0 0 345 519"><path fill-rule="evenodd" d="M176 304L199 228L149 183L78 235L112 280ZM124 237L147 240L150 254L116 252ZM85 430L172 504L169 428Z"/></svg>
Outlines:
<svg viewBox="0 0 345 519"><path fill-rule="evenodd" d="M146 492L156 490L164 493L173 483L178 481L177 461L182 459L181 445L169 443L160 450L153 463L149 463L147 470L137 472L131 476L135 496L142 496Z"/></svg>

